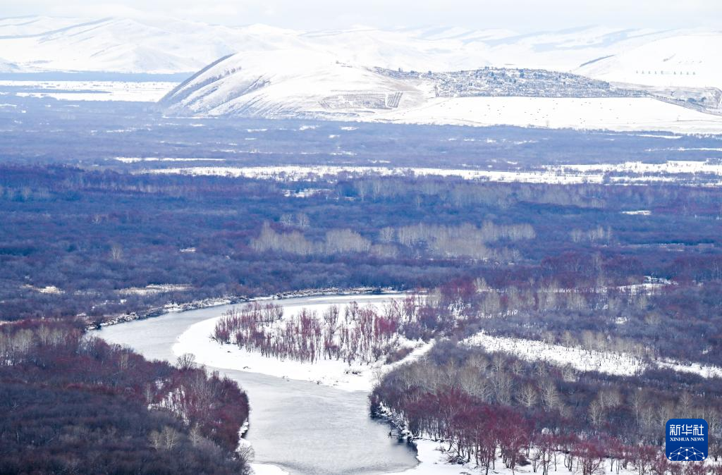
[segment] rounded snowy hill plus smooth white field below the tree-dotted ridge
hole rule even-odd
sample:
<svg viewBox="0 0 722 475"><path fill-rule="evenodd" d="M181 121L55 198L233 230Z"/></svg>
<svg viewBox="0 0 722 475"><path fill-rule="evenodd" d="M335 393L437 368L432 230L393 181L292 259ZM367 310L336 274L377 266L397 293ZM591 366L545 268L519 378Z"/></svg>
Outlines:
<svg viewBox="0 0 722 475"><path fill-rule="evenodd" d="M170 113L195 116L722 133L722 116L651 97L436 97L428 79L390 77L338 58L292 49L237 53L162 103ZM390 105L393 95L400 99Z"/></svg>

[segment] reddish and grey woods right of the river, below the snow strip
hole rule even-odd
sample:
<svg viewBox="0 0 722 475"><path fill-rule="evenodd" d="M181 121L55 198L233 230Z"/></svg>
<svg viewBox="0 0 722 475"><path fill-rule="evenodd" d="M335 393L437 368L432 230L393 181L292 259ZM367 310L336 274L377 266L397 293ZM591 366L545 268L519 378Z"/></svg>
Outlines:
<svg viewBox="0 0 722 475"><path fill-rule="evenodd" d="M547 474L563 463L591 475L608 462L617 473L664 475L682 470L664 456L661 429L671 417L706 419L710 456L722 456L721 385L672 372L576 372L447 340L385 375L370 398L373 413L411 435L445 440L451 459L486 471L500 460L512 470L523 461Z"/></svg>

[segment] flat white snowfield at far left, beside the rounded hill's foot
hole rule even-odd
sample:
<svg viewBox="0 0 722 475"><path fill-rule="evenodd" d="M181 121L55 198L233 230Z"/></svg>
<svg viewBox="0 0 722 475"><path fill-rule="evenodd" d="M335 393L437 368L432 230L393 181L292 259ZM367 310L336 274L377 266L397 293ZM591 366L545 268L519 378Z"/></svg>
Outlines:
<svg viewBox="0 0 722 475"><path fill-rule="evenodd" d="M61 100L123 100L155 103L173 90L175 82L124 81L9 81L0 87L17 88L18 96L53 97Z"/></svg>

